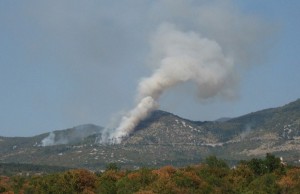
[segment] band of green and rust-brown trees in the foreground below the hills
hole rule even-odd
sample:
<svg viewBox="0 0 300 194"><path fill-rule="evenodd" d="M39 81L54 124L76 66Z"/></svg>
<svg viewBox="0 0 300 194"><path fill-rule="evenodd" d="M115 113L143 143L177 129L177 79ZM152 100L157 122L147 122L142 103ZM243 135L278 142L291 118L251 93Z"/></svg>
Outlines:
<svg viewBox="0 0 300 194"><path fill-rule="evenodd" d="M0 176L0 193L299 193L300 168L274 155L240 161L236 166L210 156L197 165L104 172L72 169L59 173Z"/></svg>

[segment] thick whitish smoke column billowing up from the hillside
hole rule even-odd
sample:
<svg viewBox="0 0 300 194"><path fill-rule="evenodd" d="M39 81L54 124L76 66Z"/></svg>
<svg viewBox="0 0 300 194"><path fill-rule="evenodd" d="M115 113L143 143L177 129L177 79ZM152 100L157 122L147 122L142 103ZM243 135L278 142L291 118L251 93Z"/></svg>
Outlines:
<svg viewBox="0 0 300 194"><path fill-rule="evenodd" d="M162 24L152 41L157 69L138 86L137 105L110 134L120 143L137 124L158 108L159 97L167 89L184 82L193 82L202 99L231 96L235 87L235 65L225 56L220 45L196 32L184 32L175 25Z"/></svg>

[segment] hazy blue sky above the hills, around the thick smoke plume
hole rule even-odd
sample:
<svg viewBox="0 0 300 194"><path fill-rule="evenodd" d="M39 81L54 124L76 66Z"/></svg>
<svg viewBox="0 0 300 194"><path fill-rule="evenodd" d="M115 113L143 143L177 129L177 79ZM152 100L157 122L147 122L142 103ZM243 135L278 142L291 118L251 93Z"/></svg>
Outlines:
<svg viewBox="0 0 300 194"><path fill-rule="evenodd" d="M241 46L237 35L248 44L230 51L246 50L249 64L236 98L199 101L187 83L166 91L160 109L203 121L289 103L300 98L299 10L298 0L0 0L0 136L106 126L131 109L163 22L220 42L225 54Z"/></svg>

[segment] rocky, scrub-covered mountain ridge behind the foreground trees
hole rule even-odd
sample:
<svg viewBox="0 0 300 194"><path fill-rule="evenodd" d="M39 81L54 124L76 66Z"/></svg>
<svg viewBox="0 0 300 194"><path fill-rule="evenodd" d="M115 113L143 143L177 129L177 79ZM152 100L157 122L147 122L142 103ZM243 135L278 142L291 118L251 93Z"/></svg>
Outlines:
<svg viewBox="0 0 300 194"><path fill-rule="evenodd" d="M88 124L34 137L0 137L0 163L97 170L111 162L128 168L181 166L199 163L210 155L234 163L273 153L298 164L300 100L237 118L206 122L158 110L118 145L95 143L102 130Z"/></svg>

